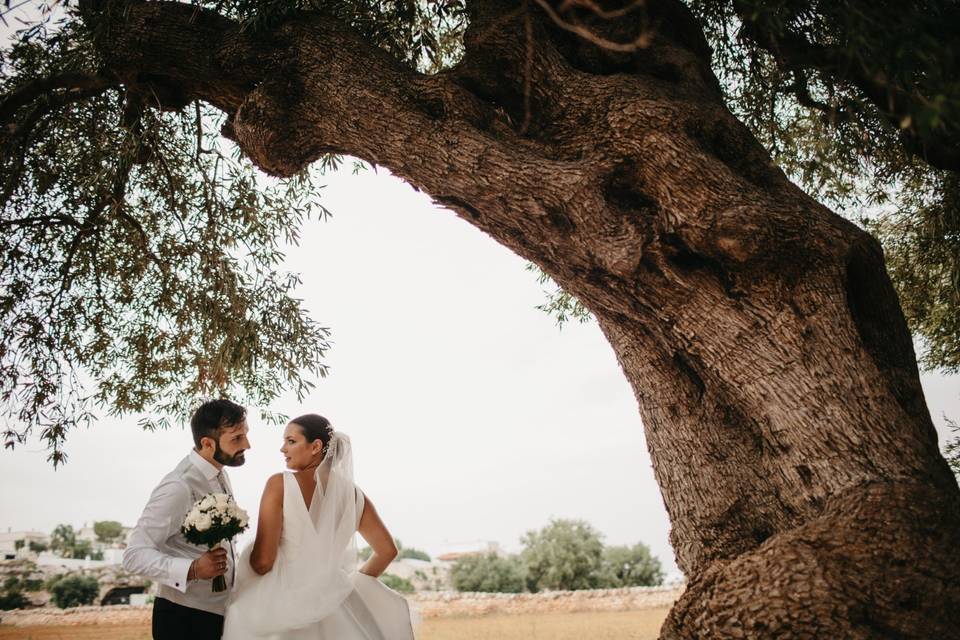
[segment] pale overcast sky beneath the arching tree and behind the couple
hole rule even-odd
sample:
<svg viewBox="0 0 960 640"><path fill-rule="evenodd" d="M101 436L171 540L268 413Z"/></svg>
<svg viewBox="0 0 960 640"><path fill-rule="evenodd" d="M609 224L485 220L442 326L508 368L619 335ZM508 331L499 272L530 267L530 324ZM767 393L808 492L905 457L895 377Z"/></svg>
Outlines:
<svg viewBox="0 0 960 640"><path fill-rule="evenodd" d="M358 483L407 545L519 550L528 529L583 518L675 570L636 401L596 324L558 330L534 308L543 293L523 260L385 171L327 183L334 217L307 224L288 267L333 331L331 373L276 408L321 413L353 438ZM956 378L924 387L942 442L942 414L960 416ZM280 429L252 416L250 439L231 478L255 511L283 468ZM132 525L189 447L187 430L130 419L73 433L57 471L36 442L3 452L0 527Z"/></svg>

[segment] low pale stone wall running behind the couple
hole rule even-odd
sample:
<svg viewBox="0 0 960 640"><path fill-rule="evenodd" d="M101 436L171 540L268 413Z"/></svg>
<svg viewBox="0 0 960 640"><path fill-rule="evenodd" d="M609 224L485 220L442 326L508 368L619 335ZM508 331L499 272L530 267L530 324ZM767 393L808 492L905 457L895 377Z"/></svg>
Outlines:
<svg viewBox="0 0 960 640"><path fill-rule="evenodd" d="M422 618L469 617L490 614L633 611L669 607L683 586L630 587L545 593L426 592L409 597ZM0 622L14 626L73 626L150 624L151 606L19 609L0 612Z"/></svg>

